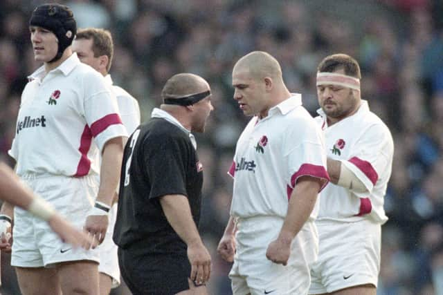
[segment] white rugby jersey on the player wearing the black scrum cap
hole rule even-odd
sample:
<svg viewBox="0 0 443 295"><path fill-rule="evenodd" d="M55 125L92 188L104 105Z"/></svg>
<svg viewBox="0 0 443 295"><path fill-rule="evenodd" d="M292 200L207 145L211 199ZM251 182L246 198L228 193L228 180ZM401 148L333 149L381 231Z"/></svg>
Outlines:
<svg viewBox="0 0 443 295"><path fill-rule="evenodd" d="M114 94L102 75L75 53L44 74L42 66L30 75L21 95L9 151L17 161L17 174L98 173L105 142L127 136Z"/></svg>

